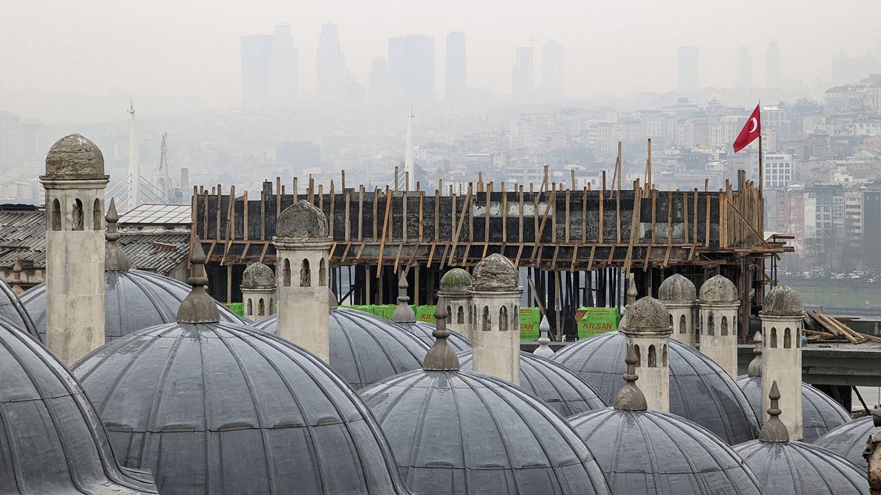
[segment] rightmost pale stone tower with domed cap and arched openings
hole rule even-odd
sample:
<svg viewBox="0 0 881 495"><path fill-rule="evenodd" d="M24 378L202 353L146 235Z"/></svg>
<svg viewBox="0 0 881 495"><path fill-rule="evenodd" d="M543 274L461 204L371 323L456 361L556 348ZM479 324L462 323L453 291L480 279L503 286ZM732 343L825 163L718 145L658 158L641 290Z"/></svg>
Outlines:
<svg viewBox="0 0 881 495"><path fill-rule="evenodd" d="M802 440L802 298L786 285L777 285L765 296L759 311L762 321L762 410L776 382L787 407L780 419L791 440ZM767 418L765 418L767 419Z"/></svg>

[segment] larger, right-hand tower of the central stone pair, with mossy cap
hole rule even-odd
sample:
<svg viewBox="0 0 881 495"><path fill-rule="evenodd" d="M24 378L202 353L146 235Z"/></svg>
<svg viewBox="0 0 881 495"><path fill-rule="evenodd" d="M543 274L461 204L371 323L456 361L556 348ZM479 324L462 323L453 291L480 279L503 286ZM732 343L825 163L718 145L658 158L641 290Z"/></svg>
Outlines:
<svg viewBox="0 0 881 495"><path fill-rule="evenodd" d="M487 256L474 268L471 293L473 369L520 384L520 297L523 288L514 263Z"/></svg>

